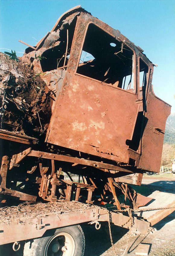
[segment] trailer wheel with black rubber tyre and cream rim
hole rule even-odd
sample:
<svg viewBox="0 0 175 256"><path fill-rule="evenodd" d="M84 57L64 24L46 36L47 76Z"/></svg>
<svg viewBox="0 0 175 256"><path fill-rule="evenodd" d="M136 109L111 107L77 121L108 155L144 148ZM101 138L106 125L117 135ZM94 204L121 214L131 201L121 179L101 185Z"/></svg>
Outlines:
<svg viewBox="0 0 175 256"><path fill-rule="evenodd" d="M85 238L81 226L48 230L24 245L24 256L83 256Z"/></svg>

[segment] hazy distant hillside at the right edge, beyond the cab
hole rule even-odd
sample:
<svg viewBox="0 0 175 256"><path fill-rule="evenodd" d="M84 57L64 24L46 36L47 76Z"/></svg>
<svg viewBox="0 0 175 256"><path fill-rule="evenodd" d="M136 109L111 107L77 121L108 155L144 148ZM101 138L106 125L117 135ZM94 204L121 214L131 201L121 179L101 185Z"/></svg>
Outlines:
<svg viewBox="0 0 175 256"><path fill-rule="evenodd" d="M175 144L175 114L170 115L167 119L164 143Z"/></svg>

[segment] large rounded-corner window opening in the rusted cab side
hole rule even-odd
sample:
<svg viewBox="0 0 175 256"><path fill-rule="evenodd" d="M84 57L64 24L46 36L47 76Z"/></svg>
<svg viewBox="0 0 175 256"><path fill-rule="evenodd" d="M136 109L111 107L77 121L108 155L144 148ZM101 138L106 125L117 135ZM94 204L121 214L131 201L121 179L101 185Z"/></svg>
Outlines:
<svg viewBox="0 0 175 256"><path fill-rule="evenodd" d="M77 73L116 88L133 91L133 51L110 34L89 24Z"/></svg>

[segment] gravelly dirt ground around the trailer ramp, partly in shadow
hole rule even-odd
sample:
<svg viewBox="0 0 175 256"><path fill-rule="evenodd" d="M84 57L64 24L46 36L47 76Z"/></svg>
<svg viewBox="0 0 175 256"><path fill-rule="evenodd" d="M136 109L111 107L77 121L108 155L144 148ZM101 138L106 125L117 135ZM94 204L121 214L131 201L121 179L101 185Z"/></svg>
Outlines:
<svg viewBox="0 0 175 256"><path fill-rule="evenodd" d="M154 177L153 177L154 176ZM140 190L145 195L154 190L175 194L175 177L162 177L161 175L146 176L143 178ZM138 191L140 192L140 191ZM128 238L128 230L113 227L113 243L119 256L133 256L140 243L150 244L149 256L174 256L175 255L175 212L153 226L153 230L147 235L131 236L126 253L123 254ZM114 256L107 227L95 230L85 230L86 249L84 256ZM116 254L116 255L117 255Z"/></svg>

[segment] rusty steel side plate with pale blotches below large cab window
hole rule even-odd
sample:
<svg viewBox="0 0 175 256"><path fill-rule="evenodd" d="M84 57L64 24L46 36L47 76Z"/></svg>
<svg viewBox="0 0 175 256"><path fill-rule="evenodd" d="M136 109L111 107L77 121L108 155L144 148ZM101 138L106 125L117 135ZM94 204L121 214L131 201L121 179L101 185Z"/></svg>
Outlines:
<svg viewBox="0 0 175 256"><path fill-rule="evenodd" d="M126 139L132 139L135 101L135 94L70 74L56 101L47 142L128 162Z"/></svg>

